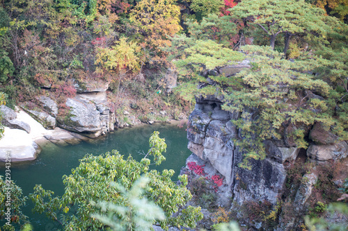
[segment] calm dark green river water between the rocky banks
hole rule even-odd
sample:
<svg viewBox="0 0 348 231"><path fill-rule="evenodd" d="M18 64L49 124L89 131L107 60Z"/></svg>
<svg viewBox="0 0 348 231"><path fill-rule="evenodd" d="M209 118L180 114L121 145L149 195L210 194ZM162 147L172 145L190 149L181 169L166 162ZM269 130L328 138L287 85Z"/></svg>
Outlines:
<svg viewBox="0 0 348 231"><path fill-rule="evenodd" d="M100 155L113 149L118 150L122 155L128 157L129 153L136 160L143 157L139 151L148 151L148 139L152 132L159 131L159 137L166 139L167 151L164 153L166 161L162 162L156 169L173 169L177 180L180 169L185 165L187 157L191 154L187 149L187 132L185 128L168 125L139 126L117 130L104 139L89 144L82 142L74 146L46 146L38 158L30 162L13 163L11 165L11 180L15 180L19 187L22 187L24 196L33 192L35 185L42 185L44 189L55 191L56 195L63 194L62 176L71 173L71 169L79 165L79 160L91 153ZM0 163L0 175L4 176L4 164ZM56 223L49 221L44 215L32 214L32 204L28 200L24 207L24 214L29 216L34 230L56 230L59 228ZM0 222L2 225L3 222Z"/></svg>

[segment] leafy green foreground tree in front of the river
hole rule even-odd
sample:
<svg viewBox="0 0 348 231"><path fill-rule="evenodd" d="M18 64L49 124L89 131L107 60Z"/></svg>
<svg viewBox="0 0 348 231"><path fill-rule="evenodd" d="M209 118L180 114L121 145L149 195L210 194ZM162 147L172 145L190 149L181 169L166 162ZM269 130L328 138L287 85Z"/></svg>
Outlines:
<svg viewBox="0 0 348 231"><path fill-rule="evenodd" d="M103 206L95 206L95 203L104 201L115 206L132 207L129 194L125 191L132 191L134 182L144 176L150 179L144 196L161 207L166 216L166 219L159 221L159 225L165 229L170 226L195 227L203 214L200 213L200 207L186 207L192 197L186 188L187 176L180 176L181 184L177 185L171 180L173 170L165 169L162 173L149 170L151 161L148 157L154 158L154 164L160 164L165 160L161 153L166 151L166 143L159 138L159 132L154 132L149 143L148 155L141 162L136 162L132 156L125 160L117 151L100 156L86 155L80 165L72 169L70 176L63 176L63 196L52 197L53 191L45 190L41 185L35 186L34 193L29 196L35 204L34 211L45 212L51 219L61 223L65 230L104 230L108 225L97 221L95 217L100 219L110 214L102 209ZM121 187L113 187L115 183ZM112 212L111 209L107 210ZM176 216L172 216L174 213L177 213ZM122 213L115 214L115 219L129 224L127 230L136 230L133 229L136 224L129 221L134 216L128 215L127 212L124 216Z"/></svg>

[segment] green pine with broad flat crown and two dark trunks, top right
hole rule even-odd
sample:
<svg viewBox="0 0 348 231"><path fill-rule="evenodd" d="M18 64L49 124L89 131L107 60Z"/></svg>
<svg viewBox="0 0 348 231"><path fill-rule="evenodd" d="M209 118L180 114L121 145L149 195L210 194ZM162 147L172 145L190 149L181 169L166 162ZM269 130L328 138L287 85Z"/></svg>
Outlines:
<svg viewBox="0 0 348 231"><path fill-rule="evenodd" d="M244 0L232 8L231 15L260 27L267 33L272 49L278 35L283 35L285 54L294 35L325 37L329 29L324 12L304 0Z"/></svg>

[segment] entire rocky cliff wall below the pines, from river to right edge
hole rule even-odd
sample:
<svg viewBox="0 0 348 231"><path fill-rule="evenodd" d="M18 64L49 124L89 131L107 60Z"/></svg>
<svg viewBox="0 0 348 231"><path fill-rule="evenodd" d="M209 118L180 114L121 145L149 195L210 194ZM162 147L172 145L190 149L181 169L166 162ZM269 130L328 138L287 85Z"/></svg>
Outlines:
<svg viewBox="0 0 348 231"><path fill-rule="evenodd" d="M235 74L240 68L230 69L230 73ZM228 112L222 110L221 105L222 100L215 96L197 97L187 128L188 148L193 153L187 159L187 164L195 162L195 166L203 166L206 179L215 174L223 177L223 185L216 191L216 205L233 209L252 201L257 204L267 201L276 207L279 201L286 200L292 206L278 208L279 211L283 209L279 214L290 214L291 210L293 216L286 219L283 215L280 216L275 230L296 230L300 221L303 222L301 216L308 213L308 198L313 196L313 189L318 181L316 166L345 160L343 175L335 180L335 185L342 187L344 179L348 177L348 144L346 141L338 141L338 137L324 130L320 123L315 123L308 129L308 149L297 148L287 137L281 140L267 139L264 140L266 157L263 160L249 160L251 169L246 169L239 166L244 152L235 144L236 140L243 139L242 131L233 123L242 117L243 112ZM251 117L256 113L248 110ZM304 174L301 185L289 186L289 166L299 159L311 162L312 167ZM187 166L185 172L191 173L192 178L199 177L197 175L200 174L192 170ZM291 193L287 192L285 195L285 191ZM242 216L239 213L239 218ZM347 217L345 219L347 222ZM262 222L249 221L248 225L256 230L264 228Z"/></svg>

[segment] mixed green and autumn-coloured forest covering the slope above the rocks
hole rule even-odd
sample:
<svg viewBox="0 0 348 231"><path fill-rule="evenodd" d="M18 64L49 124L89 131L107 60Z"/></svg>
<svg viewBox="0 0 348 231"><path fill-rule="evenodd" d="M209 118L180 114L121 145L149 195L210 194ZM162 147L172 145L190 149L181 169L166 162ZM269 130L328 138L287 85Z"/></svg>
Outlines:
<svg viewBox="0 0 348 231"><path fill-rule="evenodd" d="M252 149L284 132L306 147L306 127L316 121L347 139L347 7L295 0L2 1L0 91L12 107L52 96L63 117L67 97L107 83L110 108L132 110L141 121L182 118L195 94L221 94L226 110L262 114L236 122L259 137L246 160L262 157ZM252 68L238 76L209 74L219 90L196 88L207 83L203 73L245 59ZM280 85L283 92L275 91ZM246 147L255 135L244 136Z"/></svg>

